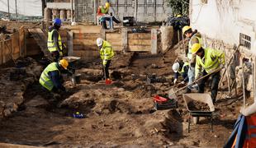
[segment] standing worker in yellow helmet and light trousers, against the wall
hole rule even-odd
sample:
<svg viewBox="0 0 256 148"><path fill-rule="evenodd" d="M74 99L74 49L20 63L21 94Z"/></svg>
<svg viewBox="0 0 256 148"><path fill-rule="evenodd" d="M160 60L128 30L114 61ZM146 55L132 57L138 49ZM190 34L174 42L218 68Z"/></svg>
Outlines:
<svg viewBox="0 0 256 148"><path fill-rule="evenodd" d="M183 35L188 39L188 49L186 51L187 58L190 62L190 66L187 72L188 75L188 84L191 84L195 81L195 65L196 65L196 55L192 54L192 44L202 44L201 34L197 30L192 31L191 26L185 25L183 27ZM192 85L186 88L186 93L190 93L192 90Z"/></svg>

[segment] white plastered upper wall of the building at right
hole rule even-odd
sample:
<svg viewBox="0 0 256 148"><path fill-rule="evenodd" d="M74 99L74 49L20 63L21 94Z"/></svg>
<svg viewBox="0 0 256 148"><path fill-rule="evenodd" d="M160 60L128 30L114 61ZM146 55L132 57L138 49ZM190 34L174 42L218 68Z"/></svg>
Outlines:
<svg viewBox="0 0 256 148"><path fill-rule="evenodd" d="M239 44L239 33L249 35L256 54L256 0L191 0L191 25L211 39Z"/></svg>

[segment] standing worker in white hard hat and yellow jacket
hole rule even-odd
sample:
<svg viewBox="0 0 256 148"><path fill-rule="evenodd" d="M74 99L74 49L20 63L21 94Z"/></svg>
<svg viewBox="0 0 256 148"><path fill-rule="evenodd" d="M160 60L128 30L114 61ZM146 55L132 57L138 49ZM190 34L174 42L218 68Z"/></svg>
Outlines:
<svg viewBox="0 0 256 148"><path fill-rule="evenodd" d="M109 78L108 67L110 66L111 59L114 57L114 51L111 47L111 44L102 38L97 38L97 47L100 50L100 56L102 58L102 72L104 74L104 78Z"/></svg>

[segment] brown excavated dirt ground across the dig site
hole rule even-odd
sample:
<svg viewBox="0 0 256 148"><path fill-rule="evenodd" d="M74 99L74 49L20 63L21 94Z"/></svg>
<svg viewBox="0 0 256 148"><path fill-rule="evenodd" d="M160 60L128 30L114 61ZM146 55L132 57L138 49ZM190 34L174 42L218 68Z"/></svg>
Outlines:
<svg viewBox="0 0 256 148"><path fill-rule="evenodd" d="M73 85L66 77L64 94L45 92L34 81L26 87L17 112L0 122L0 142L52 147L222 147L241 101L223 108L229 101L223 97L227 92L220 92L223 101L216 105L214 132L210 132L208 120L200 118L187 133L188 112L181 96L178 109L154 110L152 97L173 85L168 78L173 74L172 60L166 62L164 56L116 56L111 62L111 85L101 81L100 61L80 62L76 72L82 74L81 83ZM152 73L166 77L165 81L149 83L147 76ZM73 118L75 112L83 113L84 118Z"/></svg>

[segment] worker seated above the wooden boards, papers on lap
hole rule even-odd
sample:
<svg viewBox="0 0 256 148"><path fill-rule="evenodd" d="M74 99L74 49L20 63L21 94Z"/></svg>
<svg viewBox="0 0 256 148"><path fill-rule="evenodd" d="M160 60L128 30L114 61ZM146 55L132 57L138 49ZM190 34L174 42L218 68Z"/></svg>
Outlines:
<svg viewBox="0 0 256 148"><path fill-rule="evenodd" d="M110 2L106 2L105 3L105 6L99 6L97 8L97 17L98 17L98 20L101 22L102 24L102 27L104 29L107 30L107 22L106 21L111 21L111 18L112 18L112 21L116 22L117 24L120 23L119 20L116 19L115 16L112 16L111 15L108 15L108 11L109 11L109 8L110 8ZM111 23L111 22L110 22Z"/></svg>

